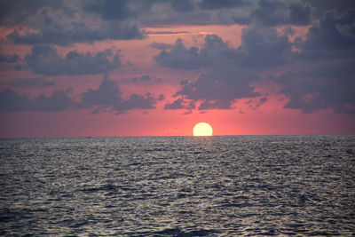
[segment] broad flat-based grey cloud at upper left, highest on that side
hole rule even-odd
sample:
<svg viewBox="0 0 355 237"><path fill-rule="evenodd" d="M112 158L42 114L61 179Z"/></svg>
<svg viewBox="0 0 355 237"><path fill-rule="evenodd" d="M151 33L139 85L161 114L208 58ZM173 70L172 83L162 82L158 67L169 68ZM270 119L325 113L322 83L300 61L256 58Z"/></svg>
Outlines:
<svg viewBox="0 0 355 237"><path fill-rule="evenodd" d="M122 1L114 1L121 3ZM117 14L118 15L118 14ZM39 7L36 14L27 16L21 24L27 30L13 30L6 39L11 43L71 45L93 41L142 39L137 24L130 21L92 19L75 9ZM90 23L91 22L91 23ZM24 32L23 32L24 31Z"/></svg>

